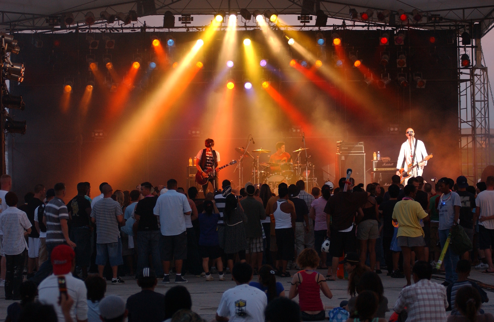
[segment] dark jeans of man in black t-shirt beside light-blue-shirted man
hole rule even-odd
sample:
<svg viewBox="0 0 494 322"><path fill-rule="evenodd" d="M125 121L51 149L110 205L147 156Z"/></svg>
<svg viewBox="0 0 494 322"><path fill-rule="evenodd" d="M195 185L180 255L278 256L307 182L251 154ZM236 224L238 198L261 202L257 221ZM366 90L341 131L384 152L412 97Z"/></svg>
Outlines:
<svg viewBox="0 0 494 322"><path fill-rule="evenodd" d="M160 238L161 233L159 230L137 232L137 274L142 272L143 268L149 266L149 254L151 254L156 276L163 276L163 265L160 257Z"/></svg>

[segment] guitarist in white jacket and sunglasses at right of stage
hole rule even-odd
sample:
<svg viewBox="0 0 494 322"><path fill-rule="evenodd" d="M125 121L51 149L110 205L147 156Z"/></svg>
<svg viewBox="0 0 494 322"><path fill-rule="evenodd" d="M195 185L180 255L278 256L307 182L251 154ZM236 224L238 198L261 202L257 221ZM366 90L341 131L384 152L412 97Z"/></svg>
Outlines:
<svg viewBox="0 0 494 322"><path fill-rule="evenodd" d="M400 175L400 166L405 161L404 171L407 171L409 167L416 164L419 160L423 160L427 157L427 151L425 151L424 142L415 139L415 131L411 127L407 128L407 141L405 141L400 149L400 155L398 156L398 162L396 163L396 174ZM410 177L405 178L404 185L407 185L408 179L411 177L421 176L424 171L424 166L427 165L427 161L419 162L418 168L414 168Z"/></svg>

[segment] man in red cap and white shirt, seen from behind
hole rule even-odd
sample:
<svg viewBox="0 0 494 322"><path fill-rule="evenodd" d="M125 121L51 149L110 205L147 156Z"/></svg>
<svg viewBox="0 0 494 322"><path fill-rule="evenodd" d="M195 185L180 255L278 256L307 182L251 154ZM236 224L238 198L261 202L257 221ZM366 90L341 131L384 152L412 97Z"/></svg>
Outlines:
<svg viewBox="0 0 494 322"><path fill-rule="evenodd" d="M60 291L58 279L63 276L67 286L67 294L73 299L70 309L70 316L75 322L87 320L87 291L84 282L72 276L71 272L76 267L76 253L68 245L58 245L51 251L51 264L53 274L44 279L39 288L39 300L43 304L51 304L55 308L58 322L64 322L65 317L62 312L60 301ZM101 303L100 303L101 309Z"/></svg>

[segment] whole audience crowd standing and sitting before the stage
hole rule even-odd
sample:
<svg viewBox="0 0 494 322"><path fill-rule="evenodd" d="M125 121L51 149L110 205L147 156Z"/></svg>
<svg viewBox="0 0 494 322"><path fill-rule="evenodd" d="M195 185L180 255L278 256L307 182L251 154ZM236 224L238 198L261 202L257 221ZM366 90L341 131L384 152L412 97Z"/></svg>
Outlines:
<svg viewBox="0 0 494 322"><path fill-rule="evenodd" d="M389 309L379 275L386 269L389 278L406 279L393 307L402 319L494 321L480 309L487 294L468 280L472 265L494 272L494 177L477 187L463 176L434 186L422 177L405 186L399 176L392 181L387 191L377 183L364 190L341 178L336 188L328 182L309 193L300 180L279 184L275 195L266 184L248 182L236 190L224 180L204 199L196 187L186 192L174 179L166 187L143 182L132 191L103 182L93 199L90 184L81 182L67 203L65 184L48 190L38 184L18 205L11 178L3 175L0 286L5 299L21 300L9 306L8 319L203 321L191 311L187 288L177 285L163 295L155 286L170 283L171 274L177 284L188 282L185 274L205 282L216 274L225 281L228 274L237 286L223 293L216 321L339 315L382 322ZM448 247L438 265L458 230L470 247L459 254ZM320 292L332 297L330 281L343 278L342 266L350 298L327 312ZM436 271L445 272L442 284L430 281ZM135 277L142 291L126 303L105 296L105 280L124 284L124 275ZM291 278L288 294L277 277ZM298 304L291 301L296 296Z"/></svg>

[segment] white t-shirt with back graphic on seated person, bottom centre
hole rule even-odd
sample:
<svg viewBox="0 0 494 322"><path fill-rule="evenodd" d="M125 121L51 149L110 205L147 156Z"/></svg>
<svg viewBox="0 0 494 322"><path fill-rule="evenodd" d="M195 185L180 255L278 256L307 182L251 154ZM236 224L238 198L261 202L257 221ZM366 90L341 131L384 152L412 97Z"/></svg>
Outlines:
<svg viewBox="0 0 494 322"><path fill-rule="evenodd" d="M258 322L264 321L267 305L266 293L248 284L240 284L223 293L216 313L220 317L230 317L229 322Z"/></svg>

